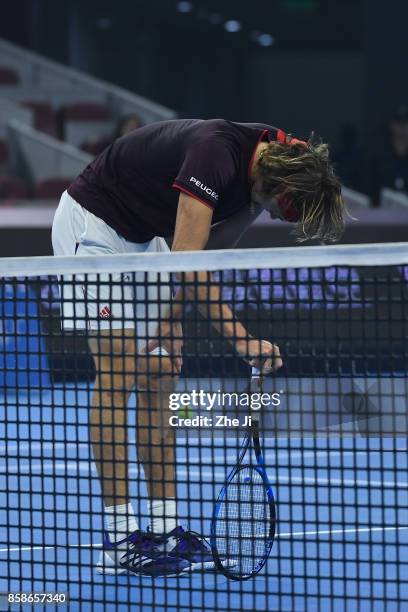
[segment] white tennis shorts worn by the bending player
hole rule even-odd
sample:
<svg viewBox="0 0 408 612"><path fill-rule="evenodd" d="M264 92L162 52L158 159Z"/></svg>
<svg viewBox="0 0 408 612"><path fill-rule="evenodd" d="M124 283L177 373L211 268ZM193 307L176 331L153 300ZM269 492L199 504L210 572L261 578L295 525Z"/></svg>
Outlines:
<svg viewBox="0 0 408 612"><path fill-rule="evenodd" d="M54 255L113 255L169 251L164 238L137 244L120 236L66 191L52 226ZM171 299L167 273L76 274L60 278L65 330L135 328L138 344L157 335Z"/></svg>

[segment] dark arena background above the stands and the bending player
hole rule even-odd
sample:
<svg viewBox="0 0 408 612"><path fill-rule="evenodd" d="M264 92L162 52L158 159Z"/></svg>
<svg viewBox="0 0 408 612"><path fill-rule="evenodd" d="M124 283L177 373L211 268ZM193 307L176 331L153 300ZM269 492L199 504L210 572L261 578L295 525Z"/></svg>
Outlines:
<svg viewBox="0 0 408 612"><path fill-rule="evenodd" d="M188 13L177 0L1 2L0 36L180 116L314 129L334 142L345 122L378 137L408 100L406 0L191 0ZM241 31L226 32L225 19ZM259 32L274 44L260 47Z"/></svg>

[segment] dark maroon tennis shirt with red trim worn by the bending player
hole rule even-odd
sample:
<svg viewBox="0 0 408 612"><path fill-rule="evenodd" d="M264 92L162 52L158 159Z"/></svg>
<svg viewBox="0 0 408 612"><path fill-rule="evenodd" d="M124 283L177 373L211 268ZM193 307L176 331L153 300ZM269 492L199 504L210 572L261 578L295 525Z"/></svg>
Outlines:
<svg viewBox="0 0 408 612"><path fill-rule="evenodd" d="M154 123L115 140L68 193L131 242L174 233L180 191L214 210L213 223L250 202L257 144L277 129L223 119Z"/></svg>

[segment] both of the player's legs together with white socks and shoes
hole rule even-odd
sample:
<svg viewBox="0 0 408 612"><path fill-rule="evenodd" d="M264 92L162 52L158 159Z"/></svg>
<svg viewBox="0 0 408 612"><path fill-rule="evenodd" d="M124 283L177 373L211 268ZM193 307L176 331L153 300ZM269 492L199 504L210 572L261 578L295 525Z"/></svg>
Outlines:
<svg viewBox="0 0 408 612"><path fill-rule="evenodd" d="M108 532L112 533L111 541L118 542L114 550L104 548L98 571L164 575L214 569L211 551L202 538L177 524L175 440L168 423L168 394L176 382L173 363L164 355L137 359L133 335L134 330L126 330L126 333L115 332L111 338L102 336L90 342L97 367L91 440ZM129 503L126 436L127 402L135 384L139 389L138 455L148 485L151 529L161 536L159 540L148 540L147 562L145 538L152 537L149 534L137 535L136 544L127 550L128 536L138 529ZM135 553L134 546L139 545L140 550ZM124 554L123 549L127 550Z"/></svg>

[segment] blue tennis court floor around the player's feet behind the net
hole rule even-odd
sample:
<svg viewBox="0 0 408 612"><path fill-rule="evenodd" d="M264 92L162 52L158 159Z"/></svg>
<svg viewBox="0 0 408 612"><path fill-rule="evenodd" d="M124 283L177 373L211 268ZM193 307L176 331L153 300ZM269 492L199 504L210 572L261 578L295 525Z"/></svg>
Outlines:
<svg viewBox="0 0 408 612"><path fill-rule="evenodd" d="M401 611L408 601L408 455L404 438L264 440L278 535L264 571L239 583L100 576L102 501L88 444L89 388L55 386L1 401L1 591L63 592L70 609ZM130 437L135 401L130 404ZM236 439L180 434L180 512L208 534ZM136 512L146 489L130 468ZM226 463L227 462L227 463ZM143 523L143 520L142 520ZM91 603L92 602L92 603ZM222 604L221 604L222 602ZM325 607L326 606L326 607ZM13 608L11 608L13 609ZM18 609L18 608L15 608ZM23 608L24 609L24 608ZM28 609L28 608L27 608Z"/></svg>

